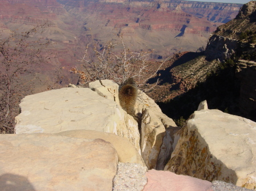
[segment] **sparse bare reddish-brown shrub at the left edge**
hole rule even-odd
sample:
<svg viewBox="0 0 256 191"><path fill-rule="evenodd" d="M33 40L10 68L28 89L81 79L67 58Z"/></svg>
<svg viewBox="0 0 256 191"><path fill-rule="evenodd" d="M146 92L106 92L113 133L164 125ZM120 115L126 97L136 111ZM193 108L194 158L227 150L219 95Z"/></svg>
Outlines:
<svg viewBox="0 0 256 191"><path fill-rule="evenodd" d="M40 33L49 24L38 25L26 32L11 31L0 39L0 131L14 132L14 117L19 113L19 101L31 92L31 87L21 84L22 75L31 73L33 65L46 62L44 49L49 41Z"/></svg>

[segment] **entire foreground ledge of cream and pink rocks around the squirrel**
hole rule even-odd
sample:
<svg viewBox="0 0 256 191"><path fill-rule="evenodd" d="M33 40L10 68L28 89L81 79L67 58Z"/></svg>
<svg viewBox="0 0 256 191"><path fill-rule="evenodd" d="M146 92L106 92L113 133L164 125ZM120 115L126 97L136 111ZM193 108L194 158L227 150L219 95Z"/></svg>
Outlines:
<svg viewBox="0 0 256 191"><path fill-rule="evenodd" d="M119 105L118 85L102 84L22 100L16 134L0 135L0 188L256 189L255 122L207 109L205 101L180 129L139 92L138 126Z"/></svg>

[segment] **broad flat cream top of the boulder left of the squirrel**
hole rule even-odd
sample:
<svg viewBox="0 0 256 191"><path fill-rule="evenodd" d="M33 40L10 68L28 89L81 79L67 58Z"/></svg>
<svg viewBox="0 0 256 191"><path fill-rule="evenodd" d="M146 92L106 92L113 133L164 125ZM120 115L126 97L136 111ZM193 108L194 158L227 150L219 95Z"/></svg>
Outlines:
<svg viewBox="0 0 256 191"><path fill-rule="evenodd" d="M29 95L20 103L15 133L91 129L117 134L117 104L89 88L61 88Z"/></svg>

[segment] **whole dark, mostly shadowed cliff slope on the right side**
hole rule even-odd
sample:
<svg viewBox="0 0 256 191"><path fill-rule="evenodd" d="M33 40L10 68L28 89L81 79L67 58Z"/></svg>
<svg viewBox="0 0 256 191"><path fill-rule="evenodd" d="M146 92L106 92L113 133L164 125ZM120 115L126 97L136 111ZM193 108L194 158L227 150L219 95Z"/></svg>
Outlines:
<svg viewBox="0 0 256 191"><path fill-rule="evenodd" d="M207 99L210 108L256 120L255 9L255 1L246 3L235 19L217 27L204 53L175 54L159 71L156 78L162 80L162 86L151 96L166 102L168 106L161 103L162 110L170 117L189 117L197 104ZM179 111L180 115L174 116Z"/></svg>

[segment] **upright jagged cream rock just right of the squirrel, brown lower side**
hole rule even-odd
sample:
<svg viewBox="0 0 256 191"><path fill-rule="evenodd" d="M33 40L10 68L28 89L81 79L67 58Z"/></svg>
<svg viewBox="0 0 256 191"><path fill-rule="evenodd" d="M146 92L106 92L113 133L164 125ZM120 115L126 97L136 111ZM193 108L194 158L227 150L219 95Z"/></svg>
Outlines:
<svg viewBox="0 0 256 191"><path fill-rule="evenodd" d="M162 164L165 164L165 160L170 158L172 150L168 148L172 147L171 138L174 135L172 132L177 130L177 125L174 120L162 113L154 100L142 91L139 92L135 109L142 113L142 158L148 169L162 169ZM167 129L171 129L171 131Z"/></svg>

